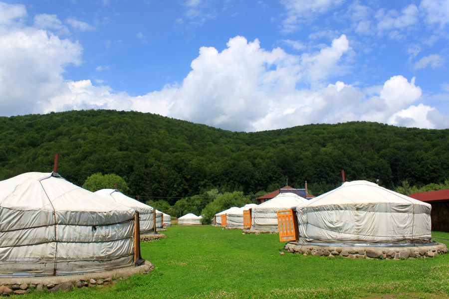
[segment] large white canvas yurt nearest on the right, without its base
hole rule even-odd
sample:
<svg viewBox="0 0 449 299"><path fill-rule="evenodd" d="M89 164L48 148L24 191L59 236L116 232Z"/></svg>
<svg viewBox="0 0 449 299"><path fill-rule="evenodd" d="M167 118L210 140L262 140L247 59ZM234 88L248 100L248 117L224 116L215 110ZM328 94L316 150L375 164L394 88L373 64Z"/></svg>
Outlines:
<svg viewBox="0 0 449 299"><path fill-rule="evenodd" d="M360 180L296 207L299 243L433 243L431 205Z"/></svg>

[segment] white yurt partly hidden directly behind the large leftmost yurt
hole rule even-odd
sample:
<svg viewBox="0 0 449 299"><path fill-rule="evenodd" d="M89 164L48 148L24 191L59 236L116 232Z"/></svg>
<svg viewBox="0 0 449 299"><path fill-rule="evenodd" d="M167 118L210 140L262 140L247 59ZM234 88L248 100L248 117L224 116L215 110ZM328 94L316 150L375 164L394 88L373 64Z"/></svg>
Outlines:
<svg viewBox="0 0 449 299"><path fill-rule="evenodd" d="M140 217L140 233L154 233L154 209L152 207L131 197L128 197L116 189L101 189L94 193L106 199L118 202L133 210L137 210Z"/></svg>

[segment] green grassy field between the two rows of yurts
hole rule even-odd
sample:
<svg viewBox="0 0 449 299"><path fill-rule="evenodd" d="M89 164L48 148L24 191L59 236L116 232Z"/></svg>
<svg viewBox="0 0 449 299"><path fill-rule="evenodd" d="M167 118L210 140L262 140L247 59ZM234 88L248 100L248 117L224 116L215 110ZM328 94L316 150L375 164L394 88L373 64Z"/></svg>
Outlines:
<svg viewBox="0 0 449 299"><path fill-rule="evenodd" d="M426 260L350 260L282 252L278 235L212 226L169 227L142 243L155 264L109 287L27 298L448 298L449 255ZM436 237L436 236L435 236ZM449 239L449 233L438 232ZM441 241L449 246L449 242Z"/></svg>

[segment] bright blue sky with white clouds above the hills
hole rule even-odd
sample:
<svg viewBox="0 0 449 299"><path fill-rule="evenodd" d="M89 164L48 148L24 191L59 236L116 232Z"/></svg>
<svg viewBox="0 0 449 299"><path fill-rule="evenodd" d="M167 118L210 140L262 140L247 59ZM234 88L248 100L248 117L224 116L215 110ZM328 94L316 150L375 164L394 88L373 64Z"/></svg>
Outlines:
<svg viewBox="0 0 449 299"><path fill-rule="evenodd" d="M449 128L449 0L0 2L0 116Z"/></svg>

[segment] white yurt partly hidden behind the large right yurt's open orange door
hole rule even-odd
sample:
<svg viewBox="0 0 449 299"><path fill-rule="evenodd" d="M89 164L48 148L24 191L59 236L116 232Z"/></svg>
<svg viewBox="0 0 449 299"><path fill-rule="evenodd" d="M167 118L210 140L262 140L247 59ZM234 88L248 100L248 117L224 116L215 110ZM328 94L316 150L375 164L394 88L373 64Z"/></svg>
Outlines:
<svg viewBox="0 0 449 299"><path fill-rule="evenodd" d="M295 193L280 193L251 209L251 229L277 232L277 211L288 210L307 201Z"/></svg>

